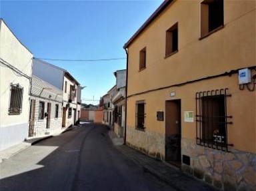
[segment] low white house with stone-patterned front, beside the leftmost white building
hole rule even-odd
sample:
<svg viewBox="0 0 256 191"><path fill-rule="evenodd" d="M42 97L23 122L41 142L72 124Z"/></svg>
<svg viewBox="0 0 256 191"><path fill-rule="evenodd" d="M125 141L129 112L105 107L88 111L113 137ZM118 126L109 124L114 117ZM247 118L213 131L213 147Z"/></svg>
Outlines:
<svg viewBox="0 0 256 191"><path fill-rule="evenodd" d="M32 76L29 136L53 134L61 130L63 91Z"/></svg>

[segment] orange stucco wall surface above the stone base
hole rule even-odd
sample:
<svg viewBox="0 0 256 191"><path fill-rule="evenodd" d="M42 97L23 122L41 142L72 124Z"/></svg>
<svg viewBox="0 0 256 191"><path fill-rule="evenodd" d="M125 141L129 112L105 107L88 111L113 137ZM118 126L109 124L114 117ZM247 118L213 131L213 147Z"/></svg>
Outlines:
<svg viewBox="0 0 256 191"><path fill-rule="evenodd" d="M157 121L156 113L165 111L165 100L181 99L181 137L195 140L196 123L183 120L184 111L195 114L195 93L227 88L227 114L233 116L228 142L237 150L256 153L256 90L240 90L237 73L143 93L256 65L256 1L224 1L223 29L201 40L200 3L174 1L129 45L127 127L135 127L136 100L145 100L145 131L165 134L165 121ZM165 33L175 23L178 52L165 58ZM139 71L139 51L144 47L146 69Z"/></svg>

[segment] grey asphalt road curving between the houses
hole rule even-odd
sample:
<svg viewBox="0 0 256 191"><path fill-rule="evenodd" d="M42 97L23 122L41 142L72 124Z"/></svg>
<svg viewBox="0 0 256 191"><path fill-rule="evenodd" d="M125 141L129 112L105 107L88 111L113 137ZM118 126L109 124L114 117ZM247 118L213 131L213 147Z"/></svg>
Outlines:
<svg viewBox="0 0 256 191"><path fill-rule="evenodd" d="M123 155L107 126L83 124L0 164L0 191L175 190Z"/></svg>

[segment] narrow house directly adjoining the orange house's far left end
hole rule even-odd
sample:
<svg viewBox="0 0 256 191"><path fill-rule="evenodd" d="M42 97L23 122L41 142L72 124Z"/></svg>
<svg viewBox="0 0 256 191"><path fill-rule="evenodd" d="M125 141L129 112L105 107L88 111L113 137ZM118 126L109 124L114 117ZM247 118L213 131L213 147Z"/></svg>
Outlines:
<svg viewBox="0 0 256 191"><path fill-rule="evenodd" d="M116 91L111 98L114 104L114 131L119 137L124 135L125 126L125 85L126 70L115 71Z"/></svg>

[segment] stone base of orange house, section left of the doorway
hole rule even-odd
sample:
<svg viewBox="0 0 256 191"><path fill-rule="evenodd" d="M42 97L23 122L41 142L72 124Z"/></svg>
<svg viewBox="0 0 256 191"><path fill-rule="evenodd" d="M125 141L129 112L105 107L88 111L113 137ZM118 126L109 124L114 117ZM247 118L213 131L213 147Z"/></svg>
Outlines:
<svg viewBox="0 0 256 191"><path fill-rule="evenodd" d="M141 152L165 160L165 135L127 126L126 144Z"/></svg>

